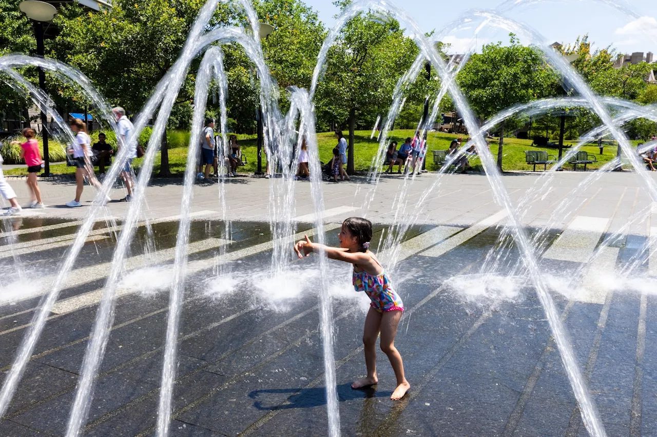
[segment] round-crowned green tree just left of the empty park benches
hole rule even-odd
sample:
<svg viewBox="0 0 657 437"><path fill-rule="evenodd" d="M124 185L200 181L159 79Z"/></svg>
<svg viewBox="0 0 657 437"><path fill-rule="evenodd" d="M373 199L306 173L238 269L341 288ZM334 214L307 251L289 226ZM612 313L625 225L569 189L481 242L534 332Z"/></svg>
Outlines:
<svg viewBox="0 0 657 437"><path fill-rule="evenodd" d="M508 46L501 42L484 45L481 54L473 54L463 66L457 81L470 101L470 107L487 119L514 104L526 103L555 93L555 72L543 55L532 47L520 45L513 33ZM497 152L497 167L502 171L505 122L502 122Z"/></svg>

